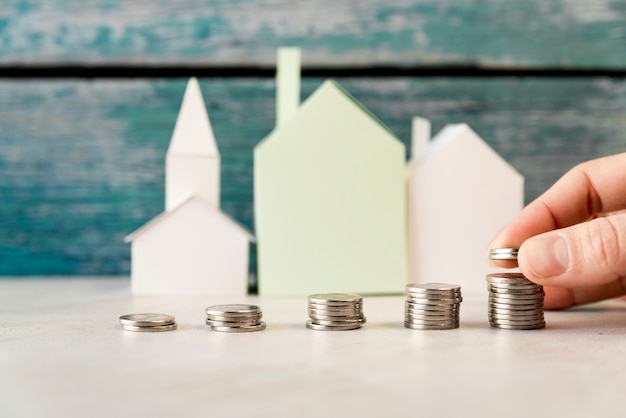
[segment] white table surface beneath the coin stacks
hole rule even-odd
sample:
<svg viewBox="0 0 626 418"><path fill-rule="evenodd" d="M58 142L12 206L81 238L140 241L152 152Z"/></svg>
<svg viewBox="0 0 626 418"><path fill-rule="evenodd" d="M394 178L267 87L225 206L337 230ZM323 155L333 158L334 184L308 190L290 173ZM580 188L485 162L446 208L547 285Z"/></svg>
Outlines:
<svg viewBox="0 0 626 418"><path fill-rule="evenodd" d="M260 305L265 331L204 324L206 306L239 302ZM309 330L306 308L132 297L125 278L0 280L0 417L626 415L626 302L546 312L534 331L490 328L486 290L448 331L404 328L403 296L366 297L356 331ZM133 312L178 330L123 331Z"/></svg>

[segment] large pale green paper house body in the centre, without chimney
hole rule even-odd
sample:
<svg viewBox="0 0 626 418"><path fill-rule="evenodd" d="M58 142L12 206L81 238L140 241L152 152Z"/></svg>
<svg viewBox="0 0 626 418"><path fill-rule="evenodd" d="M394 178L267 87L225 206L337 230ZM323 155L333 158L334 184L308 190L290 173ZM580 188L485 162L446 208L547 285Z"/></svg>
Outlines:
<svg viewBox="0 0 626 418"><path fill-rule="evenodd" d="M333 81L254 151L259 292L402 292L405 147Z"/></svg>

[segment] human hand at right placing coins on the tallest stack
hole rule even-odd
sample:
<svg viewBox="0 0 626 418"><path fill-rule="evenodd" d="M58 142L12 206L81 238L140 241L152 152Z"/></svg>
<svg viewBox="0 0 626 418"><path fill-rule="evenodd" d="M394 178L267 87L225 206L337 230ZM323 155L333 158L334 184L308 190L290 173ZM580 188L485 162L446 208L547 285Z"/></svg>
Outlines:
<svg viewBox="0 0 626 418"><path fill-rule="evenodd" d="M489 247L519 247L519 268L544 286L545 309L626 294L626 153L574 167Z"/></svg>

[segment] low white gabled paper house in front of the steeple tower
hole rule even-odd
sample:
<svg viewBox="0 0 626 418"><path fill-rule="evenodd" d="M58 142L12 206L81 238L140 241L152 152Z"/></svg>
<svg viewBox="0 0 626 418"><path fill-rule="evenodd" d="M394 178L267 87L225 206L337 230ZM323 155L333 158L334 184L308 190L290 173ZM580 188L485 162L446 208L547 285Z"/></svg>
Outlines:
<svg viewBox="0 0 626 418"><path fill-rule="evenodd" d="M163 212L126 238L133 294L244 296L252 237L203 198Z"/></svg>

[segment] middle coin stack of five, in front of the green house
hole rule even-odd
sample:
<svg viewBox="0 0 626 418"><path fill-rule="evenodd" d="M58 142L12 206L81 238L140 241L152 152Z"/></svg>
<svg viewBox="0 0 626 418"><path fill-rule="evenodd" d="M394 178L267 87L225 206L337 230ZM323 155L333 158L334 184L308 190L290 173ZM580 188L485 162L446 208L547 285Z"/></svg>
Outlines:
<svg viewBox="0 0 626 418"><path fill-rule="evenodd" d="M316 331L347 331L365 323L363 298L353 293L311 295L307 328Z"/></svg>

